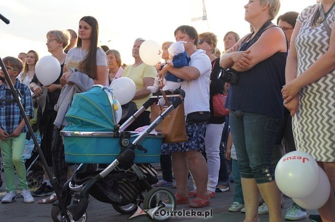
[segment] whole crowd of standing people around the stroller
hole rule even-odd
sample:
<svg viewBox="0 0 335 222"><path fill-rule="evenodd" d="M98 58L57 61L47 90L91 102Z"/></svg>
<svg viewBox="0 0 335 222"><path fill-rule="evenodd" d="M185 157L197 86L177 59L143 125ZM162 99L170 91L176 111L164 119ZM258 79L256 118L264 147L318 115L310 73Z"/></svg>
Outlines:
<svg viewBox="0 0 335 222"><path fill-rule="evenodd" d="M76 93L85 92L95 84L109 86L115 79L127 77L136 85L131 102L141 107L152 95L151 86L159 83L162 88L173 77L186 92L187 141L162 144L158 167L162 179L155 187L172 186L177 189L178 205L200 208L209 206L215 193L229 191L230 182L235 182L229 211L245 212L245 221L259 221L261 213L269 213L270 221L281 221L283 194L277 187L274 171L285 153L299 150L318 162L332 187L328 201L318 209L320 218L316 215L312 218L332 221L334 116L329 119L328 115L334 109L334 5L334 0L323 0L300 14L280 15L274 24L279 0L249 1L244 8L251 32L242 38L236 32L227 32L222 54L217 48L217 35L198 34L194 27L181 25L174 32L186 58L181 67L174 65L173 42L162 44L164 62L155 66L145 64L139 54L145 42L142 38L133 42L134 63L124 67L120 52L98 46L98 22L91 16L79 20L78 35L72 29L46 33L48 51L61 68L52 84L43 86L36 77L39 60L36 51L20 53L17 58L8 56L3 61L14 87L22 95L27 118L35 115L37 119L41 150L57 179L58 189L76 167L65 162L60 136L62 128L68 125L64 115ZM218 78L222 69L233 78ZM47 196L39 203L53 203L57 196L47 173L37 191L31 195L28 190L22 157L27 127L4 79L4 70L0 71L0 77L0 147L7 192L2 203L16 198L14 166L24 202L34 202L32 196ZM163 83L155 82L157 78ZM217 116L213 97L225 93L228 93L225 107L230 114ZM149 124L150 108L127 130L135 131ZM187 187L189 175L193 179L192 190ZM306 217L306 209L294 203L285 219Z"/></svg>

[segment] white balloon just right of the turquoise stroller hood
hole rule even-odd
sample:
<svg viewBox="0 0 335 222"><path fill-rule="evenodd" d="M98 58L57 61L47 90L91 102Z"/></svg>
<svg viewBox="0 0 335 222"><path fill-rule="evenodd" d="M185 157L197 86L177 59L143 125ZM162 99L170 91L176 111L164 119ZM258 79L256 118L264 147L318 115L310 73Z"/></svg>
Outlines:
<svg viewBox="0 0 335 222"><path fill-rule="evenodd" d="M130 102L136 93L135 83L127 77L114 80L109 88L113 88L113 95L121 105Z"/></svg>

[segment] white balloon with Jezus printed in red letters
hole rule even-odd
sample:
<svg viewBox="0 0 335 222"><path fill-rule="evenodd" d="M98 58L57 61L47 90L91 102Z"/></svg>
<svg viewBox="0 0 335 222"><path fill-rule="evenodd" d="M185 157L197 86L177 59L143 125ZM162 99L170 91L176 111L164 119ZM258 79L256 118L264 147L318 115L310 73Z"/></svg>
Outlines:
<svg viewBox="0 0 335 222"><path fill-rule="evenodd" d="M283 194L291 198L305 198L318 186L320 172L311 155L293 151L279 160L275 177Z"/></svg>

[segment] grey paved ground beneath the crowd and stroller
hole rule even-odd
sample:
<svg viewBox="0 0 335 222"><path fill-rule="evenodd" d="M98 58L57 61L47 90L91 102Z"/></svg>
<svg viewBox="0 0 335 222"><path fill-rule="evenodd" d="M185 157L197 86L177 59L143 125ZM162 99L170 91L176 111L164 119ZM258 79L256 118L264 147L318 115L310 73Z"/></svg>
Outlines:
<svg viewBox="0 0 335 222"><path fill-rule="evenodd" d="M4 175L2 174L4 179ZM191 190L192 181L189 179L189 190ZM169 188L171 189L171 188ZM228 212L229 206L233 202L233 189L234 184L231 184L231 190L224 193L216 193L216 196L211 199L211 205L205 210L213 210L213 217L210 220L213 221L243 221L244 214L241 212ZM176 192L176 189L171 189L173 193ZM5 185L0 188L0 196L5 192ZM51 219L51 208L52 204L38 204L37 201L40 198L35 198L35 203L26 204L23 202L23 198L17 198L16 201L9 204L0 203L0 222L30 222L30 221L52 221ZM282 209L282 218L284 220L285 213L287 208L292 205L292 200L288 197L285 197L285 205ZM178 205L177 210L190 209L188 205ZM317 211L308 211L309 213L317 213ZM102 203L94 198L90 198L90 202L87 208L87 217L88 221L127 221L129 215L121 215L116 212L111 204ZM259 215L260 221L269 221L269 215L263 214ZM196 221L205 221L207 219L201 218L172 218L169 221L186 221L186 220L196 220ZM129 219L132 221L149 221L145 215L140 215L138 217ZM300 221L309 221L308 219L303 219Z"/></svg>

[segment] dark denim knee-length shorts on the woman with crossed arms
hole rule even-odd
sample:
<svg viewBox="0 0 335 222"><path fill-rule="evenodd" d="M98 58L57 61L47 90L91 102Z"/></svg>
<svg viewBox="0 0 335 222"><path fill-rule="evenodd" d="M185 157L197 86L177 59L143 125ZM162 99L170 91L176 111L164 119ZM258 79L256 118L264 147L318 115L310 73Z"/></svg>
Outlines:
<svg viewBox="0 0 335 222"><path fill-rule="evenodd" d="M275 180L271 166L279 118L244 112L242 117L229 115L230 132L236 147L242 178L255 178L256 183Z"/></svg>

